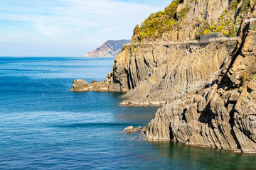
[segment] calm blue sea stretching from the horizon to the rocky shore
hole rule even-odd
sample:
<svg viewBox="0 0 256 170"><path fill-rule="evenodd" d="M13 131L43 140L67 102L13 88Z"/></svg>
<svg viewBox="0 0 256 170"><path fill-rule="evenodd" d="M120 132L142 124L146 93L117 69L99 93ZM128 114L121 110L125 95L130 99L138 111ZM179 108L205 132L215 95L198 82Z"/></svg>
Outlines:
<svg viewBox="0 0 256 170"><path fill-rule="evenodd" d="M157 108L118 106L120 93L73 93L102 81L114 58L0 57L0 169L256 169L254 154L146 142Z"/></svg>

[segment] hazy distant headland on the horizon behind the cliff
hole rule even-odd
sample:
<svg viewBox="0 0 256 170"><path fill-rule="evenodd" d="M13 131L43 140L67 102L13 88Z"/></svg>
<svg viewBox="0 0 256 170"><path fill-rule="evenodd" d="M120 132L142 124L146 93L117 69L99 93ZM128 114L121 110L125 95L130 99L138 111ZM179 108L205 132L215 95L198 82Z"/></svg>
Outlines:
<svg viewBox="0 0 256 170"><path fill-rule="evenodd" d="M131 40L108 40L92 52L87 52L85 57L116 57L122 52L123 45L130 42Z"/></svg>

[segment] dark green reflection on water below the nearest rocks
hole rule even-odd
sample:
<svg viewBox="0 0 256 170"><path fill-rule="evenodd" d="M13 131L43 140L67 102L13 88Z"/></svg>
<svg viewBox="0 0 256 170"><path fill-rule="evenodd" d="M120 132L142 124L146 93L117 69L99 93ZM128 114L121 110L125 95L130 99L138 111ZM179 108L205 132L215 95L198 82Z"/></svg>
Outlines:
<svg viewBox="0 0 256 170"><path fill-rule="evenodd" d="M159 150L162 157L169 158L184 169L256 169L255 154L191 147L173 142L151 142L151 145Z"/></svg>

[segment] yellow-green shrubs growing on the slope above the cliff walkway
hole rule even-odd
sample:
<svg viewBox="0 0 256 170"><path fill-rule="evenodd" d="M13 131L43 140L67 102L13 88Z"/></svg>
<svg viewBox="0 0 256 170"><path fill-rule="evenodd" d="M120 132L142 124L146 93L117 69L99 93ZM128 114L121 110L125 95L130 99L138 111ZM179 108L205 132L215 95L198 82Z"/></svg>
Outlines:
<svg viewBox="0 0 256 170"><path fill-rule="evenodd" d="M163 33L171 33L173 30L179 33L182 28L188 28L188 23L191 22L188 20L193 20L193 18L188 16L188 20L186 20L186 15L191 10L189 4L193 4L193 1L195 0L188 1L185 7L180 8L178 6L183 4L183 0L174 0L164 11L152 13L140 27L139 25L135 26L132 41L156 40L161 38ZM228 37L237 36L242 18L249 8L250 0L232 0L218 21L208 21L204 11L201 11L198 13L198 16L201 17L192 21L193 27L196 28L194 30L195 39L210 33L222 33Z"/></svg>

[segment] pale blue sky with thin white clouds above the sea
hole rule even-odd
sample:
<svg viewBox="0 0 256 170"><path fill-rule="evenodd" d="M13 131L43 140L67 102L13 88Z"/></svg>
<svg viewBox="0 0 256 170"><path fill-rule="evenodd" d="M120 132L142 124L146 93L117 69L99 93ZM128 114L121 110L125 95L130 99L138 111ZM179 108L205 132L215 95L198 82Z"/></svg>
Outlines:
<svg viewBox="0 0 256 170"><path fill-rule="evenodd" d="M82 57L171 0L1 0L1 57Z"/></svg>

